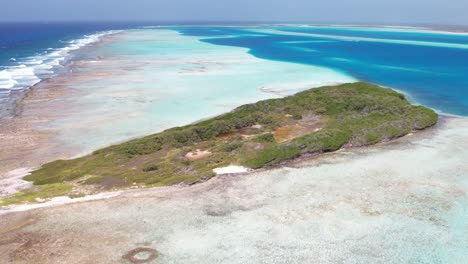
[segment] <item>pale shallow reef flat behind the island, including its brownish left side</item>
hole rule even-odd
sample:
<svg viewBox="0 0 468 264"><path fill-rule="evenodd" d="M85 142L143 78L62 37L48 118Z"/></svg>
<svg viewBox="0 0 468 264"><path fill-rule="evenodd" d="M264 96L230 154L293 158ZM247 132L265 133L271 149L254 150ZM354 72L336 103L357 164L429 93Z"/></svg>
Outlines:
<svg viewBox="0 0 468 264"><path fill-rule="evenodd" d="M126 30L76 51L62 74L29 90L0 121L0 178L55 159L331 83L323 67L269 61L175 30Z"/></svg>

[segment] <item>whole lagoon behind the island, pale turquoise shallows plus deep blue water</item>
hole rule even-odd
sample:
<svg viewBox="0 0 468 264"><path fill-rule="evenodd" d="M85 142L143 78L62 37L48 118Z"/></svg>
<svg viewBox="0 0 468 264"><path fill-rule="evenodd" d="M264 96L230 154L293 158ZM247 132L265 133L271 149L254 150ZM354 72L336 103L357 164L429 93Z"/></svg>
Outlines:
<svg viewBox="0 0 468 264"><path fill-rule="evenodd" d="M238 105L369 81L413 103L468 115L468 34L319 26L125 30L74 58L60 85L83 95L45 127L80 153ZM79 114L77 114L79 113ZM73 139L73 140L71 140Z"/></svg>

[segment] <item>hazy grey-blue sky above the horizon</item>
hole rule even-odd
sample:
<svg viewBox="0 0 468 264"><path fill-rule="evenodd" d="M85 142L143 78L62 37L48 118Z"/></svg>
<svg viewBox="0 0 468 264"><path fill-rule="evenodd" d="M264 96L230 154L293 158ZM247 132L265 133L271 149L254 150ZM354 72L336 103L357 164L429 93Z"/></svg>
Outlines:
<svg viewBox="0 0 468 264"><path fill-rule="evenodd" d="M468 0L2 0L3 21L249 21L468 25Z"/></svg>

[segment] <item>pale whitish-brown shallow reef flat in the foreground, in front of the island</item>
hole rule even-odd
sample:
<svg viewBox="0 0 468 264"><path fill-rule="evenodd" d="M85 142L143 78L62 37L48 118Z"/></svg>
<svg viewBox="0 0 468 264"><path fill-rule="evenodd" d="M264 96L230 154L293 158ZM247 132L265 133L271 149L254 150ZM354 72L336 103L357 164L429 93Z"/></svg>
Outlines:
<svg viewBox="0 0 468 264"><path fill-rule="evenodd" d="M468 120L190 187L2 215L5 263L463 263ZM148 253L149 254L149 253Z"/></svg>

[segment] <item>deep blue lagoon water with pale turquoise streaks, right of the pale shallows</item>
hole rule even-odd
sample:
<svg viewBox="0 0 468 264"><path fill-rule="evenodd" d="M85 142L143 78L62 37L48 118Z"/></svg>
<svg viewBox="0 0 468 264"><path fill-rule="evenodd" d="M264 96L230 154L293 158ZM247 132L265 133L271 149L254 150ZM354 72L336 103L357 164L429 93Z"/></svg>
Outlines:
<svg viewBox="0 0 468 264"><path fill-rule="evenodd" d="M406 92L413 102L468 115L468 34L312 26L175 29L248 48L260 58L336 69Z"/></svg>

